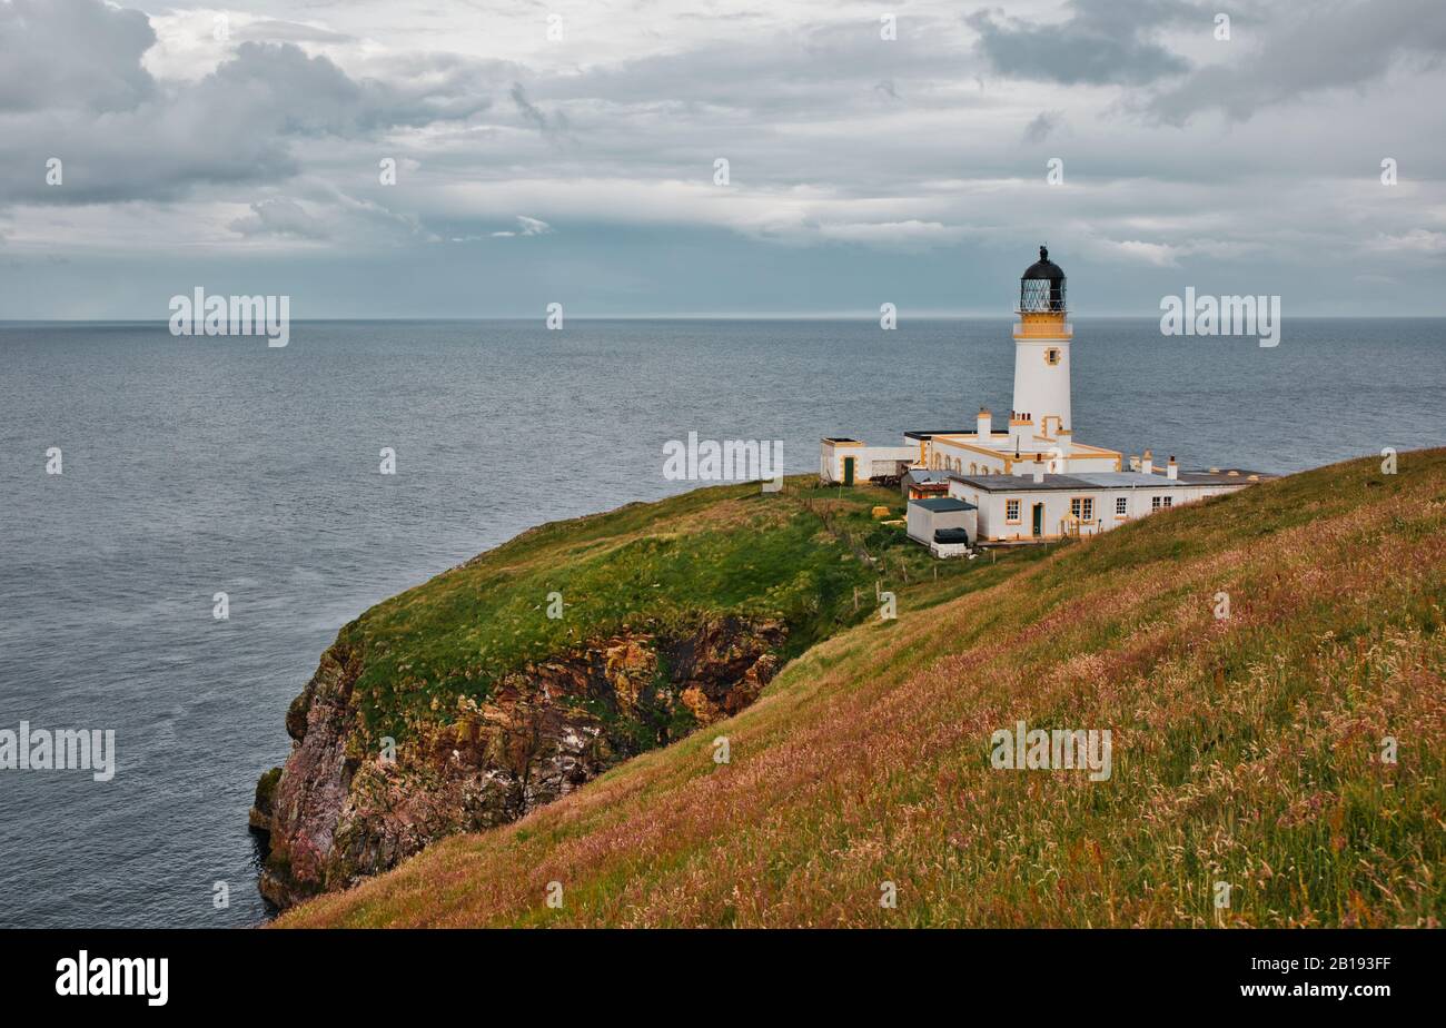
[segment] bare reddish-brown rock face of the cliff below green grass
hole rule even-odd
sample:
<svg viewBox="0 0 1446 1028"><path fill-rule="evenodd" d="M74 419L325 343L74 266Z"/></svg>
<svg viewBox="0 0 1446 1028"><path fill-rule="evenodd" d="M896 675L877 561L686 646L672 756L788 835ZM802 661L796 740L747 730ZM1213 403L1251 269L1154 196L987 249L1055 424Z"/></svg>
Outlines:
<svg viewBox="0 0 1446 1028"><path fill-rule="evenodd" d="M782 620L711 616L628 632L506 675L480 703L369 730L364 658L338 641L286 714L294 739L252 823L270 834L262 894L278 907L346 888L457 831L513 821L635 753L737 713L774 677ZM266 795L263 795L263 792Z"/></svg>

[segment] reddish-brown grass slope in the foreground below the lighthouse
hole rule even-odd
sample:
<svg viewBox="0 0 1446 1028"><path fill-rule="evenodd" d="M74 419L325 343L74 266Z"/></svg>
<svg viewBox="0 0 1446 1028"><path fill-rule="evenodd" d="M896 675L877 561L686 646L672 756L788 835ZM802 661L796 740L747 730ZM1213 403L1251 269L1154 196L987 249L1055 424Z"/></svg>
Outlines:
<svg viewBox="0 0 1446 1028"><path fill-rule="evenodd" d="M1420 451L915 596L737 717L279 924L1434 925L1443 525L1446 451ZM1017 720L1112 729L1113 776L992 769Z"/></svg>

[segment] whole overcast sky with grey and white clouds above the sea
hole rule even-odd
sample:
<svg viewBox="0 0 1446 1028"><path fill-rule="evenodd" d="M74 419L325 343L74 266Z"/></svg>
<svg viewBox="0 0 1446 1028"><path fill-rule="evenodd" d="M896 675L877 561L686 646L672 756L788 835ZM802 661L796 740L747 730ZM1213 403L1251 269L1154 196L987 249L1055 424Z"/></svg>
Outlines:
<svg viewBox="0 0 1446 1028"><path fill-rule="evenodd" d="M1442 0L0 0L0 318L999 315L1041 241L1084 315L1443 315L1443 53Z"/></svg>

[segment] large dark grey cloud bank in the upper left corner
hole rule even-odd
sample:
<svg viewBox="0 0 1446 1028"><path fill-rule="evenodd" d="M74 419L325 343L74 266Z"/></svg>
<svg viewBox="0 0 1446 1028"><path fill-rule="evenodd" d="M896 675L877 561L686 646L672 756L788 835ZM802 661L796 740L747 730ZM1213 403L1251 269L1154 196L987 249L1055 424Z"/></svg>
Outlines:
<svg viewBox="0 0 1446 1028"><path fill-rule="evenodd" d="M176 200L207 185L281 182L321 137L486 110L474 64L419 61L395 81L353 80L294 43L244 42L214 72L159 85L140 61L143 14L101 0L0 3L0 207ZM13 59L12 59L12 55ZM330 143L327 143L330 146ZM45 182L49 158L65 181Z"/></svg>

